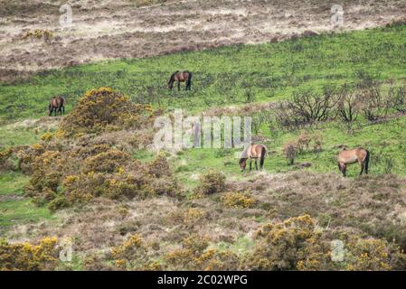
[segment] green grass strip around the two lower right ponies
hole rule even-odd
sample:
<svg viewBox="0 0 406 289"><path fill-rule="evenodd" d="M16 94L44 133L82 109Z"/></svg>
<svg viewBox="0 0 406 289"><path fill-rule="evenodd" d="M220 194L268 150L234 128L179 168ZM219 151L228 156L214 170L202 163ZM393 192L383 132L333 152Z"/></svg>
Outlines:
<svg viewBox="0 0 406 289"><path fill-rule="evenodd" d="M308 168L298 168L297 165L288 165L288 160L282 152L282 145L297 138L300 132L281 133L278 136L271 135L266 125L260 127L259 135L270 139L265 143L269 149L269 155L264 168L267 172L291 172L295 170L308 170L312 172L337 173L336 155L340 144L349 147L363 146L371 152L370 173L373 175L392 172L406 175L406 117L394 118L386 122L370 125L364 122L354 126L353 133L347 134L345 126L337 123L321 124L309 129L310 134L322 135L323 150L314 153L310 148L303 154L297 154L295 163L311 163ZM229 180L247 179L254 172L240 172L238 158L232 150L226 154L222 149L192 149L184 150L176 156L175 172L186 188L193 188L197 183L197 175L208 170L218 170L225 173ZM390 171L388 163L392 163ZM252 168L254 164L252 163ZM360 172L357 164L349 165L347 175L356 177Z"/></svg>

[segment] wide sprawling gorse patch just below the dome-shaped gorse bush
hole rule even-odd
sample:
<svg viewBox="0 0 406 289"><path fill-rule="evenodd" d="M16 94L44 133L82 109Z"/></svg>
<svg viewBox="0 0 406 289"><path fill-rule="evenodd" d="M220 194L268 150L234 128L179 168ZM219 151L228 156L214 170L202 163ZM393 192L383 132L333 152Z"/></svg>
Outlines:
<svg viewBox="0 0 406 289"><path fill-rule="evenodd" d="M100 196L146 198L175 196L180 191L167 168L165 174L149 173L165 168L163 155L144 166L130 154L106 144L65 146L59 151L55 143L34 144L22 155L21 165L31 175L26 194L39 204L50 202L52 210Z"/></svg>

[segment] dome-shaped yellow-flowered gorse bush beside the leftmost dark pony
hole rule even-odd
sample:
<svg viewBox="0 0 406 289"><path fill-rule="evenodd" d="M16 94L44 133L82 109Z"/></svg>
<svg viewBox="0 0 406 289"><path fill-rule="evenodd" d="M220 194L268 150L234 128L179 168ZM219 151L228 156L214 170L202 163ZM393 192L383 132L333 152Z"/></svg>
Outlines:
<svg viewBox="0 0 406 289"><path fill-rule="evenodd" d="M134 104L113 89L91 89L63 119L58 134L70 137L124 128L139 129L151 122L152 115L150 106Z"/></svg>

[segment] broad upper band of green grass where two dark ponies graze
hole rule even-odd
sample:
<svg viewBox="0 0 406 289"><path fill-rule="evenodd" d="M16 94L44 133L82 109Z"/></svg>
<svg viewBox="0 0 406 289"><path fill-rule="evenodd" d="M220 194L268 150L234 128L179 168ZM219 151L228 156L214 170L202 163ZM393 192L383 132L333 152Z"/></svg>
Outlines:
<svg viewBox="0 0 406 289"><path fill-rule="evenodd" d="M49 98L67 97L69 111L87 89L108 86L134 101L191 112L247 101L288 98L297 89L354 82L358 71L379 79L405 79L406 25L322 34L287 42L234 45L146 59L104 61L36 74L0 85L0 121L42 117ZM194 72L191 92L169 91L175 70Z"/></svg>

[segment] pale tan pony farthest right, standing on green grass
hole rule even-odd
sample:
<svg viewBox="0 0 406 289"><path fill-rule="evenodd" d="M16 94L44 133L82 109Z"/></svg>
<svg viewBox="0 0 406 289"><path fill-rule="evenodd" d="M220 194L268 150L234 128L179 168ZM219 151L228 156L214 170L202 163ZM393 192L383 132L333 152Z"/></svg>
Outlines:
<svg viewBox="0 0 406 289"><path fill-rule="evenodd" d="M364 171L368 174L369 159L369 151L362 147L354 148L352 150L344 148L338 154L338 169L340 169L340 172L343 172L343 175L346 176L347 164L359 163L361 165L360 175L362 175Z"/></svg>

